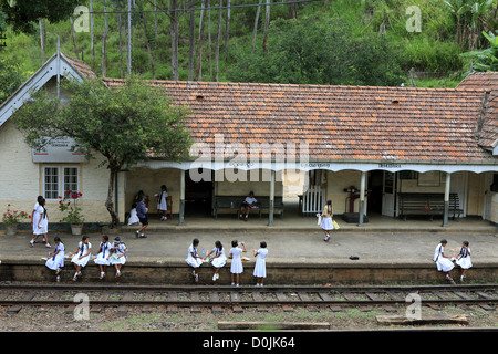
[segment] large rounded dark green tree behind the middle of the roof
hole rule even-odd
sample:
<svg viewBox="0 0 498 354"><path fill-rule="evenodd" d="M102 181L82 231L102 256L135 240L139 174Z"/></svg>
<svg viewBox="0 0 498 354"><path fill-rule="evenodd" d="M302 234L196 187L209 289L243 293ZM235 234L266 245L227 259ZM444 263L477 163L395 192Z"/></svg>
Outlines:
<svg viewBox="0 0 498 354"><path fill-rule="evenodd" d="M397 85L403 80L395 49L384 37L353 37L346 21L272 22L268 53L236 54L231 81L291 84Z"/></svg>

